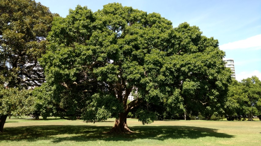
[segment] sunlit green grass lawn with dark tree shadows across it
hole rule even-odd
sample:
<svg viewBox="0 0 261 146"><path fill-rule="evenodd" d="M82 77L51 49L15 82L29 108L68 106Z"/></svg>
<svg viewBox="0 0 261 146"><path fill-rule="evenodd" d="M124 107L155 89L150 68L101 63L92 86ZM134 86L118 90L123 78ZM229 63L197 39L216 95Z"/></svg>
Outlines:
<svg viewBox="0 0 261 146"><path fill-rule="evenodd" d="M127 119L133 134L106 134L114 119L99 123L49 118L7 119L0 146L50 145L259 145L261 121L170 120L142 125Z"/></svg>

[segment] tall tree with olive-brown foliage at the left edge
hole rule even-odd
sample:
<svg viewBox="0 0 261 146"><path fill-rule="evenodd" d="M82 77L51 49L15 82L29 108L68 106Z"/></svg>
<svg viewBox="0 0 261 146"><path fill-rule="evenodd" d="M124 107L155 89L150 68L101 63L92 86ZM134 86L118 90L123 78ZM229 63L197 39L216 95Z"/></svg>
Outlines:
<svg viewBox="0 0 261 146"><path fill-rule="evenodd" d="M52 20L49 9L35 1L0 0L0 88L28 89L44 82L38 58L45 53ZM1 129L6 114L0 113Z"/></svg>

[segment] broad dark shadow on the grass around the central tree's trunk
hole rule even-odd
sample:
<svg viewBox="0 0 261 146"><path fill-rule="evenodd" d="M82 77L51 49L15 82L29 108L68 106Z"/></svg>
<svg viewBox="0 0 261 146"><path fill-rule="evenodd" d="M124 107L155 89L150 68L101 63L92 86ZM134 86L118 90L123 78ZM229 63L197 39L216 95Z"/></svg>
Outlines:
<svg viewBox="0 0 261 146"><path fill-rule="evenodd" d="M134 126L132 134L107 134L111 127L89 125L48 125L7 127L0 134L0 141L133 141L135 139L197 139L200 137L233 138L233 135L218 133L218 129L190 126Z"/></svg>

